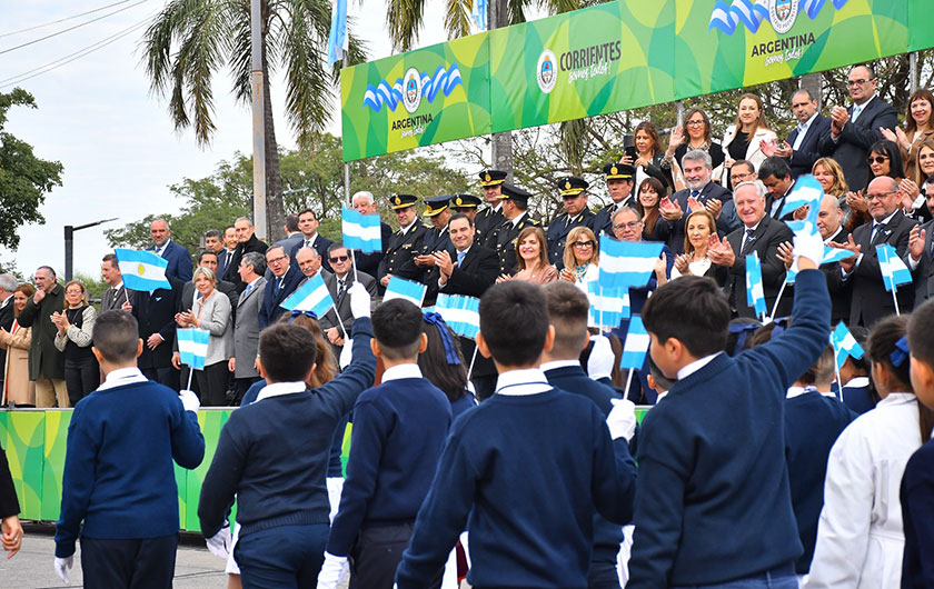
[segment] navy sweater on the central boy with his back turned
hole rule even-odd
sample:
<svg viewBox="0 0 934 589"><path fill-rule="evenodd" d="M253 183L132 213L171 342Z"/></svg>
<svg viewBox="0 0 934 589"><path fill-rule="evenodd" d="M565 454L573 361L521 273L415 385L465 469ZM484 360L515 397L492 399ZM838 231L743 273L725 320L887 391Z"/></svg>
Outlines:
<svg viewBox="0 0 934 589"><path fill-rule="evenodd" d="M587 587L593 515L632 519L636 467L593 401L557 389L494 395L451 427L441 465L396 571L426 587L470 533L468 582Z"/></svg>

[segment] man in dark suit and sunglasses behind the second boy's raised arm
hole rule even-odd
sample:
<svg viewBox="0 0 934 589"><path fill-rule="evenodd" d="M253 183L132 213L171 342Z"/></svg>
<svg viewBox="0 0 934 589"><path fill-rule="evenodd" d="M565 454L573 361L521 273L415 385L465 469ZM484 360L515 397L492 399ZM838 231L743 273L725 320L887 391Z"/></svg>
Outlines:
<svg viewBox="0 0 934 589"><path fill-rule="evenodd" d="M325 337L334 347L335 358L340 358L345 333L348 337L354 336L351 333L354 315L350 312L350 293L348 290L355 281L359 282L367 289L370 299L374 299L377 296L376 279L366 272L354 271L354 260L350 259L350 252L342 243L330 244L328 261L334 269L334 273L326 273L324 280L331 300L334 300L337 315L335 315L334 309L329 310L321 317L319 325Z"/></svg>

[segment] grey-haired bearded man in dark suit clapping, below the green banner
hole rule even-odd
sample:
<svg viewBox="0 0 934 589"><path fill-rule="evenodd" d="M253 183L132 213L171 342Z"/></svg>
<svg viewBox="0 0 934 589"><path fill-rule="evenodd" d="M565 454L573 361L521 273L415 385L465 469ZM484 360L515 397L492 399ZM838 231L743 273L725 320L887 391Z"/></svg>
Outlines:
<svg viewBox="0 0 934 589"><path fill-rule="evenodd" d="M667 244L675 254L684 253L684 223L690 211L707 209L716 219L717 229L724 233L738 226L732 219L733 196L729 190L713 181L713 171L709 153L703 149L688 151L682 158L682 172L687 188L658 202L662 219L672 226Z"/></svg>

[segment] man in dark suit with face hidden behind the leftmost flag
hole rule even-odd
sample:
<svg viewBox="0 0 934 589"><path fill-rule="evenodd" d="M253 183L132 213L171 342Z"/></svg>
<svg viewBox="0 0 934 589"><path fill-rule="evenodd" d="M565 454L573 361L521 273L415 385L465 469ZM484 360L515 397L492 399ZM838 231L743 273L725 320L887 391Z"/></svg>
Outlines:
<svg viewBox="0 0 934 589"><path fill-rule="evenodd" d="M182 282L173 277L168 277L168 280L171 284L169 289L137 292L130 312L139 323L139 338L143 343L137 362L140 371L149 380L178 390L179 372L178 367L172 368L172 346Z"/></svg>

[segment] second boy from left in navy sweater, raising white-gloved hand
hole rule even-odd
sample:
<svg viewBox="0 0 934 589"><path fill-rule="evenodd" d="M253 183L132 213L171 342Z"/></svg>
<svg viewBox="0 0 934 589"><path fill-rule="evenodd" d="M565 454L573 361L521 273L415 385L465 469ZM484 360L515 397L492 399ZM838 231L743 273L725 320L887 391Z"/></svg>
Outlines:
<svg viewBox="0 0 934 589"><path fill-rule="evenodd" d="M237 498L240 536L234 558L244 587L314 587L328 538L325 482L335 428L357 397L372 386L370 298L350 287L354 359L340 376L317 388L316 342L290 323L259 338L259 370L267 386L257 401L234 411L201 485L198 518L215 546L226 545L227 515Z"/></svg>

